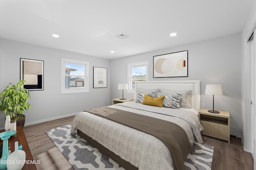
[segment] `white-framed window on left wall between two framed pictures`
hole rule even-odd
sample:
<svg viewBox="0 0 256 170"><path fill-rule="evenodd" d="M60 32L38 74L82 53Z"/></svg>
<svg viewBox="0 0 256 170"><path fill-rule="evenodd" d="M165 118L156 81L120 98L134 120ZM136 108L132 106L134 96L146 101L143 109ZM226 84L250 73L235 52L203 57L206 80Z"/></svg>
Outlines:
<svg viewBox="0 0 256 170"><path fill-rule="evenodd" d="M61 59L61 94L89 92L89 62Z"/></svg>

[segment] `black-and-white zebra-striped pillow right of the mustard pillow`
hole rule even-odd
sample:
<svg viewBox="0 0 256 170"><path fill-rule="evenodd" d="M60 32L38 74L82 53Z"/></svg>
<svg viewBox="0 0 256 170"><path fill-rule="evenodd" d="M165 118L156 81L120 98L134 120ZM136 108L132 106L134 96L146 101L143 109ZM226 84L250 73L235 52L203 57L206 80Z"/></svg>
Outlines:
<svg viewBox="0 0 256 170"><path fill-rule="evenodd" d="M165 95L161 92L158 92L157 97L161 97L161 96L165 96L163 101L164 107L180 108L179 103L180 103L180 98L182 94L177 93L177 94Z"/></svg>

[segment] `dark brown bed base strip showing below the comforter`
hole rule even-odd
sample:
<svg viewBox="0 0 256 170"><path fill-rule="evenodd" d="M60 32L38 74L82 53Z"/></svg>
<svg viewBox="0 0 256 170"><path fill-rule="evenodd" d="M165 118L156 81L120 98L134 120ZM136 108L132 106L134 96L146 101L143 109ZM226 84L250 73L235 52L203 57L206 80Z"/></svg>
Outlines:
<svg viewBox="0 0 256 170"><path fill-rule="evenodd" d="M84 140L92 144L94 147L96 147L98 150L100 150L102 153L104 153L106 156L114 160L116 163L118 163L120 166L122 166L126 170L138 170L139 168L132 165L130 162L127 162L126 160L122 159L120 156L116 155L114 152L110 151L88 135L82 133L79 129L77 129L77 134L82 137Z"/></svg>

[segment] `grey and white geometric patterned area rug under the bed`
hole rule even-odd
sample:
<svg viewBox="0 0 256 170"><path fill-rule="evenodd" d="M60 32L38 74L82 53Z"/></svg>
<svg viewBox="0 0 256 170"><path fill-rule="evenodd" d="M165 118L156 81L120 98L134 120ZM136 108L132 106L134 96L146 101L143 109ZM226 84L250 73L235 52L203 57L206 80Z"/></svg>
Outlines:
<svg viewBox="0 0 256 170"><path fill-rule="evenodd" d="M70 133L71 124L45 131L75 170L124 170L76 133ZM184 162L186 170L211 170L213 147L194 142Z"/></svg>

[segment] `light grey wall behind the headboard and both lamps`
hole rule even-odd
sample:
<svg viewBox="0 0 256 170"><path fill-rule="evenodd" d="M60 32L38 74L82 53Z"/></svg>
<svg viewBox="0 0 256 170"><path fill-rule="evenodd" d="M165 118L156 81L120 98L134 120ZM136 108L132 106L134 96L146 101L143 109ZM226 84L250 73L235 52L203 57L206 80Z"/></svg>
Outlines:
<svg viewBox="0 0 256 170"><path fill-rule="evenodd" d="M214 109L229 111L230 126L241 129L241 39L240 33L178 47L111 60L111 98L122 96L118 83L127 83L127 64L149 61L149 80L200 80L201 103L212 109L212 96L205 95L206 84L222 84L223 96L214 97ZM157 43L157 42L156 42ZM153 78L153 56L188 50L188 77ZM134 94L124 92L125 98Z"/></svg>

